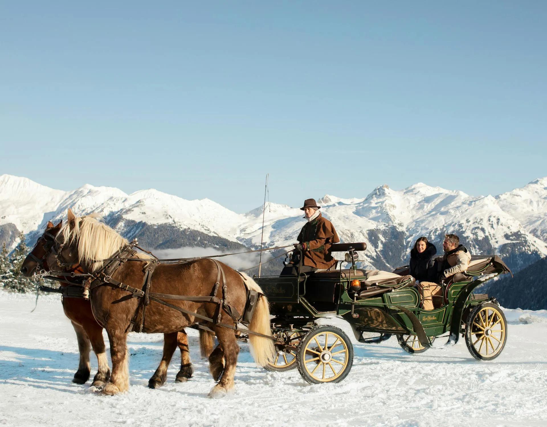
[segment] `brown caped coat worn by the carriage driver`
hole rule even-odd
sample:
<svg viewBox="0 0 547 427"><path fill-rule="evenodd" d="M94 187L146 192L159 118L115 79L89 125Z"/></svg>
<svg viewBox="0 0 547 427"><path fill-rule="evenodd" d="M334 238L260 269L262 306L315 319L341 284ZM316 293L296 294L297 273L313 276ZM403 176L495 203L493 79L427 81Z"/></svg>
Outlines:
<svg viewBox="0 0 547 427"><path fill-rule="evenodd" d="M340 242L334 225L319 214L311 223L306 223L297 239L306 244L302 264L314 268L330 268L336 260L330 254L333 243Z"/></svg>

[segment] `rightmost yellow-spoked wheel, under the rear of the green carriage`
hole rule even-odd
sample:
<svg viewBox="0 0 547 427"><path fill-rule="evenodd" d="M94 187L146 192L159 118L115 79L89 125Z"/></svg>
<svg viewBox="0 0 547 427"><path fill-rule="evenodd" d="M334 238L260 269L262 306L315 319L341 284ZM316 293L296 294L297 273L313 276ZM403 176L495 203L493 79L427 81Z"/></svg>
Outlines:
<svg viewBox="0 0 547 427"><path fill-rule="evenodd" d="M467 318L465 344L477 360L499 356L507 340L507 320L501 308L487 302L476 306Z"/></svg>

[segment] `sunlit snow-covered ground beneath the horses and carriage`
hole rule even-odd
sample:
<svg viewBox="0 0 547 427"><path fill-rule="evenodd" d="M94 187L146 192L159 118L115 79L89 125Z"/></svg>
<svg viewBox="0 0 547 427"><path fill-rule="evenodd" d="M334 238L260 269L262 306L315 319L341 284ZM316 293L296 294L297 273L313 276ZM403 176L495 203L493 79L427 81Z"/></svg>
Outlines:
<svg viewBox="0 0 547 427"><path fill-rule="evenodd" d="M149 389L148 378L161 359L162 336L131 334L131 388L123 395L101 396L89 383L71 382L78 350L59 297L40 296L30 313L33 307L32 295L0 291L0 425L547 424L547 311L506 310L508 341L490 362L473 359L463 339L420 355L403 352L394 337L377 345L354 342L353 368L338 384L310 385L297 370L264 371L242 343L235 392L216 400L207 398L213 381L194 331L190 352L195 373L189 382L173 382L179 368L176 355L168 383ZM339 319L330 323L347 329ZM91 375L95 368L92 358Z"/></svg>

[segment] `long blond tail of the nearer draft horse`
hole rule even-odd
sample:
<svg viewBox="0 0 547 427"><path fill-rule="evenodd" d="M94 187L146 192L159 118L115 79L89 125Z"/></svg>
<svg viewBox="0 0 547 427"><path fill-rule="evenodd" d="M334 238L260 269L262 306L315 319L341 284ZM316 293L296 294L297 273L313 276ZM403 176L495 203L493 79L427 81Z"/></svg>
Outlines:
<svg viewBox="0 0 547 427"><path fill-rule="evenodd" d="M247 274L241 273L248 289L263 293L260 286ZM259 334L272 336L270 329L270 306L267 298L262 295L258 299L257 305L254 308L253 318L249 323L249 330L258 332ZM270 338L261 337L258 335L249 334L249 344L251 344L251 354L254 361L260 366L266 366L268 362L274 360L275 348L274 341Z"/></svg>

